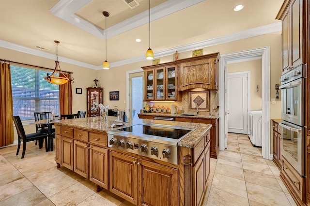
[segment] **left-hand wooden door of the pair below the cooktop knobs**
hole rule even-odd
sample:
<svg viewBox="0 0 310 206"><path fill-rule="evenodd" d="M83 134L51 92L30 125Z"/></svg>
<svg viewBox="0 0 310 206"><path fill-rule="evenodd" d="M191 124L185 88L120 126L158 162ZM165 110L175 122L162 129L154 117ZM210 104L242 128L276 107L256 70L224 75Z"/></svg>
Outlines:
<svg viewBox="0 0 310 206"><path fill-rule="evenodd" d="M128 202L138 204L137 158L110 151L110 191Z"/></svg>

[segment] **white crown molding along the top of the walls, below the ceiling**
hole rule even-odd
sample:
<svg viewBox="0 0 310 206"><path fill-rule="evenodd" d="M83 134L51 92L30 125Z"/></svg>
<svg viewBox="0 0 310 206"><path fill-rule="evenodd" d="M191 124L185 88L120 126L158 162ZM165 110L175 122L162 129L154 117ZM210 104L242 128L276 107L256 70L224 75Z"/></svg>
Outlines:
<svg viewBox="0 0 310 206"><path fill-rule="evenodd" d="M257 28L253 28L253 29L248 29L248 30L244 30L244 31L240 31L240 32L216 37L213 39L207 39L207 40L195 42L192 44L186 44L186 45L181 45L178 47L173 47L173 48L162 50L162 51L157 51L157 52L154 52L154 56L155 56L155 58L160 58L160 57L172 55L176 50L179 52L186 52L186 51L200 49L200 48L213 46L213 45L217 45L217 44L223 44L223 43L233 42L233 41L246 39L246 38L250 38L250 37L260 36L260 35L264 35L264 34L268 34L268 33L274 33L274 32L278 32L278 31L281 31L281 22L269 24L269 25L265 25L265 26L257 27ZM18 44L5 42L3 40L0 40L0 47L12 49L12 50L15 50L18 52L23 52L23 53L27 53L27 54L47 58L47 59L56 59L56 55L53 55L53 54L50 54L47 52L43 52L43 51L38 51L36 49L21 46ZM96 65L84 63L84 62L73 60L73 59L68 59L68 58L61 57L61 56L58 56L58 59L62 62L66 62L69 64L81 66L81 67L90 68L93 70L101 70L102 69L102 65L96 66ZM112 68L112 67L122 66L125 64L131 64L131 63L144 61L144 60L145 60L145 55L142 55L142 56L134 57L131 59L124 59L121 61L110 62L110 67Z"/></svg>

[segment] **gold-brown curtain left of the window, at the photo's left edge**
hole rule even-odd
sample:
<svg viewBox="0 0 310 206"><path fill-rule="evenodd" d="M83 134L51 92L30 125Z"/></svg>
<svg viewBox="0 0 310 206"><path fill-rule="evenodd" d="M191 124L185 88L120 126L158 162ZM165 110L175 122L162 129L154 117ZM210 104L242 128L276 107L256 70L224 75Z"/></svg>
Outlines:
<svg viewBox="0 0 310 206"><path fill-rule="evenodd" d="M0 147L14 142L11 67L0 62Z"/></svg>

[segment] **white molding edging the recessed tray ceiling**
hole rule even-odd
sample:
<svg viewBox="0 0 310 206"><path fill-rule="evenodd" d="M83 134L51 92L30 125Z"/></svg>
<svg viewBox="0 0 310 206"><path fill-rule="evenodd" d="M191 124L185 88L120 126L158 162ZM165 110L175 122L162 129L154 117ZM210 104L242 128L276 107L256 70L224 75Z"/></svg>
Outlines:
<svg viewBox="0 0 310 206"><path fill-rule="evenodd" d="M83 29L101 39L105 40L104 29L100 29L93 24L85 21L84 19L75 15L79 9L84 7L86 4L92 0L60 0L55 6L53 6L50 11L57 17L63 19L64 21L69 22L77 26L80 29ZM182 9L195 5L205 0L168 0L158 6L155 6L151 9L151 21L162 18L166 15L173 14ZM116 24L107 29L107 39L117 36L121 33L129 31L131 29L140 27L149 22L149 11L144 11L139 15L135 15L125 21Z"/></svg>

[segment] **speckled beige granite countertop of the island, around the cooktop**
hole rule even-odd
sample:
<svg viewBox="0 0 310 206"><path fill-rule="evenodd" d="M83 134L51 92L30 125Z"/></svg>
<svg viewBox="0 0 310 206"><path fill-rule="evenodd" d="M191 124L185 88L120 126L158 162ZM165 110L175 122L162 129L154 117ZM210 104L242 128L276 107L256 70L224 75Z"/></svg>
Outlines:
<svg viewBox="0 0 310 206"><path fill-rule="evenodd" d="M151 113L152 114L152 113ZM69 126L75 127L79 129L92 130L95 132L108 132L110 130L128 127L135 124L146 123L146 124L162 124L168 126L176 126L176 127L186 127L195 129L185 138L183 138L179 143L179 147L188 147L193 148L199 142L201 137L205 132L210 130L212 127L211 124L201 124L201 123L191 123L191 122L180 122L180 121L166 121L166 120L155 120L155 119L139 119L139 118L127 118L128 122L124 124L122 127L111 128L112 124L116 124L119 122L115 122L116 117L108 117L108 120L103 121L100 120L100 117L90 117L90 118L76 118L76 119L63 119L54 121L55 125Z"/></svg>

